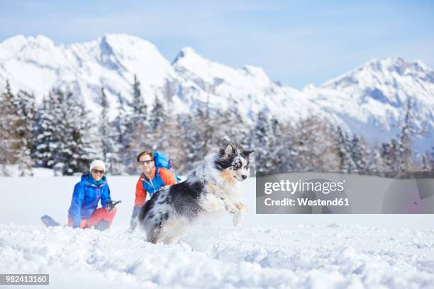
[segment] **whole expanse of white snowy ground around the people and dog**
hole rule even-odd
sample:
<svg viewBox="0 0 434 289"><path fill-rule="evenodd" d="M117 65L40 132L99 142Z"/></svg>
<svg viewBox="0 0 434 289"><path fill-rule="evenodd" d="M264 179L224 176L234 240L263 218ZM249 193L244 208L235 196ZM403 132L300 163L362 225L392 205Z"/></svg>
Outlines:
<svg viewBox="0 0 434 289"><path fill-rule="evenodd" d="M135 176L109 176L121 199L107 232L66 222L79 176L0 179L0 273L49 273L50 288L434 288L434 215L256 215L202 222L177 244L126 229Z"/></svg>

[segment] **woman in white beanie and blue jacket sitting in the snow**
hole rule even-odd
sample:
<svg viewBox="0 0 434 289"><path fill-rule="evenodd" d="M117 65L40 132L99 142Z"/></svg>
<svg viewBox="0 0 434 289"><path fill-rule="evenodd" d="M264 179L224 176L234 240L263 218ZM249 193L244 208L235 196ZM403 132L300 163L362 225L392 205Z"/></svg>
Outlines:
<svg viewBox="0 0 434 289"><path fill-rule="evenodd" d="M106 164L96 159L89 166L89 174L74 186L71 206L68 210L68 225L82 229L108 229L116 215L116 208L111 202L110 188L104 172ZM101 200L101 208L97 209Z"/></svg>

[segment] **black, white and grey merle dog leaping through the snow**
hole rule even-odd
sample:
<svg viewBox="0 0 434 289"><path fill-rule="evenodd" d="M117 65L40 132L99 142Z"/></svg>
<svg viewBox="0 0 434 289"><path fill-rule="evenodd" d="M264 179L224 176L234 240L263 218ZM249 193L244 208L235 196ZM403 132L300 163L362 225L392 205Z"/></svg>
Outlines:
<svg viewBox="0 0 434 289"><path fill-rule="evenodd" d="M252 150L228 143L205 157L187 180L154 193L140 209L139 223L148 242L171 244L199 217L228 212L238 227L245 215L242 183L250 175Z"/></svg>

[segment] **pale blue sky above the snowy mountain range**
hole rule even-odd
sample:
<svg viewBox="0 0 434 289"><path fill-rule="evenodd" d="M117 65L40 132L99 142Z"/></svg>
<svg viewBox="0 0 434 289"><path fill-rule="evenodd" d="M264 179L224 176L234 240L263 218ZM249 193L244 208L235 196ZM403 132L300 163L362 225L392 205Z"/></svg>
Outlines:
<svg viewBox="0 0 434 289"><path fill-rule="evenodd" d="M56 44L127 33L172 61L182 47L233 67L252 64L301 89L371 58L434 68L434 1L4 1L0 41L43 34Z"/></svg>

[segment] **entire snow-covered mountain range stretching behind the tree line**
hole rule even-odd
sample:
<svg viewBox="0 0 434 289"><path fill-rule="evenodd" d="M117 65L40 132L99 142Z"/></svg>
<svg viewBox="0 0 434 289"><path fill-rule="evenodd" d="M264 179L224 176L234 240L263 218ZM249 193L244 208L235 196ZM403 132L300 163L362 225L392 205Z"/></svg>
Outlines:
<svg viewBox="0 0 434 289"><path fill-rule="evenodd" d="M130 35L109 34L73 45L54 45L41 35L17 35L0 44L0 87L9 79L13 91L33 92L38 101L53 86L61 86L99 113L104 86L114 117L118 95L132 99L134 74L148 106L156 95L177 112L209 101L222 110L235 106L247 120L261 110L293 122L318 115L373 143L396 135L411 98L416 125L428 132L434 128L434 72L421 62L401 58L372 60L322 86L299 91L272 81L260 67L234 69L190 47L170 63L155 45ZM415 143L425 152L433 142L431 134Z"/></svg>

